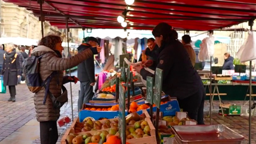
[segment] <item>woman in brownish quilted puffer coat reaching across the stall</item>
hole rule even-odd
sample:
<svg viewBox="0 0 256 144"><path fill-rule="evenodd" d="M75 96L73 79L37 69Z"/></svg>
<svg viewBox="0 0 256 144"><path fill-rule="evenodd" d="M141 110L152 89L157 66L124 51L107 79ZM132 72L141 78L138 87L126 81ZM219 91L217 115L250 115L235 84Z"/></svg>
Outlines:
<svg viewBox="0 0 256 144"><path fill-rule="evenodd" d="M63 96L62 86L67 82L75 82L78 80L75 77L63 76L65 69L73 68L81 63L83 60L92 57L100 52L101 47L90 47L79 53L78 55L62 58L62 39L59 36L46 36L40 40L39 46L33 49L32 56L42 56L40 59L40 76L45 81L53 72L57 72L53 76L49 84L49 92L42 88L34 95L34 104L36 108L36 118L40 122L40 140L41 144L55 144L58 139L57 120L60 116L60 108L55 108L50 98L50 93L55 98ZM46 103L44 96L47 94ZM68 97L68 94L66 97Z"/></svg>

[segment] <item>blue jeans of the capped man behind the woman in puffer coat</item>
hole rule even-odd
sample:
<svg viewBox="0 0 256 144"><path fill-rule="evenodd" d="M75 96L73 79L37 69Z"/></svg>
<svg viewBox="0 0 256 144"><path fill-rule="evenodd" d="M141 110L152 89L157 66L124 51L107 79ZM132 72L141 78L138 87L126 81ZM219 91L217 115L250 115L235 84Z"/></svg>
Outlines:
<svg viewBox="0 0 256 144"><path fill-rule="evenodd" d="M90 85L91 82L80 82L80 92L78 97L78 111L82 109L82 105L89 103L94 96L93 87Z"/></svg>

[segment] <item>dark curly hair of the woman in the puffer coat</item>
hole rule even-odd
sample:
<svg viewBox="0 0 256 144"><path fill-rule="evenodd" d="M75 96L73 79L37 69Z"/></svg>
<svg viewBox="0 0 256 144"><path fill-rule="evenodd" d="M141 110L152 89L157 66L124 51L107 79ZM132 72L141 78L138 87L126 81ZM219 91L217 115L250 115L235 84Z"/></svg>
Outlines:
<svg viewBox="0 0 256 144"><path fill-rule="evenodd" d="M62 43L62 39L59 36L55 36L55 35L49 35L46 37L43 37L40 41L39 41L39 46L46 46L49 47L52 50L55 50L55 46L57 43Z"/></svg>

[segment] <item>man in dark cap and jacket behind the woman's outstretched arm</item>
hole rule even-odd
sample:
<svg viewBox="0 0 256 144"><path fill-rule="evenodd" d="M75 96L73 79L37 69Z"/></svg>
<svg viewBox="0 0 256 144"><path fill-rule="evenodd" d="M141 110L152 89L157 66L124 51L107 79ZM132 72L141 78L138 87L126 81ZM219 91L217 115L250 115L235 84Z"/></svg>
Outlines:
<svg viewBox="0 0 256 144"><path fill-rule="evenodd" d="M78 52L81 53L89 47L98 46L98 40L95 37L88 37L78 47ZM95 66L94 57L84 60L78 65L78 79L80 81L80 92L78 98L78 111L82 109L82 105L89 103L94 95L93 87L95 85Z"/></svg>

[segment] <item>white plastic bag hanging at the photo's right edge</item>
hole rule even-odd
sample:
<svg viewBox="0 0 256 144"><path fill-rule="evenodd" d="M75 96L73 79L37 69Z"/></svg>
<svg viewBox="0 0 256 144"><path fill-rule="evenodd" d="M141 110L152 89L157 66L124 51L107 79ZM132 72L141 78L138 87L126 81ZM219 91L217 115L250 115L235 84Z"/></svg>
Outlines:
<svg viewBox="0 0 256 144"><path fill-rule="evenodd" d="M240 62L248 62L256 59L255 32L249 31L248 34L247 40L236 53Z"/></svg>

